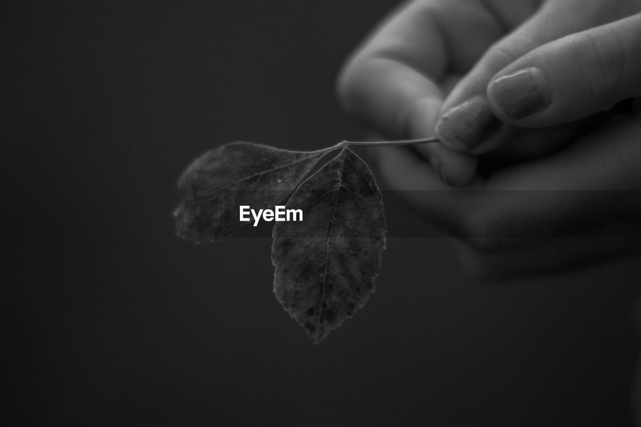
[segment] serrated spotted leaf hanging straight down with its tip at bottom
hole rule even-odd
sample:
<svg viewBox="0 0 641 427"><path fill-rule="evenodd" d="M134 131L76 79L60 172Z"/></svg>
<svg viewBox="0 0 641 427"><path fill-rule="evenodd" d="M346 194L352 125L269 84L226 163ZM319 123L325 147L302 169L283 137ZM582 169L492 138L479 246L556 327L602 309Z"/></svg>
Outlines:
<svg viewBox="0 0 641 427"><path fill-rule="evenodd" d="M367 165L344 147L294 192L302 222L274 226L274 292L314 344L365 305L385 249L381 192Z"/></svg>

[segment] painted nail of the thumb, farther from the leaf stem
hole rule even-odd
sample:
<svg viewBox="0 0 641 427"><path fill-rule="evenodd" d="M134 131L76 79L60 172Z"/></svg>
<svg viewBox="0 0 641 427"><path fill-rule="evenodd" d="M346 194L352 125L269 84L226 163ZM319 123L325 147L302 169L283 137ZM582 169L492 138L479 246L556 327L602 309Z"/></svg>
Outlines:
<svg viewBox="0 0 641 427"><path fill-rule="evenodd" d="M490 81L487 97L497 112L522 119L552 103L552 87L540 69L529 67Z"/></svg>

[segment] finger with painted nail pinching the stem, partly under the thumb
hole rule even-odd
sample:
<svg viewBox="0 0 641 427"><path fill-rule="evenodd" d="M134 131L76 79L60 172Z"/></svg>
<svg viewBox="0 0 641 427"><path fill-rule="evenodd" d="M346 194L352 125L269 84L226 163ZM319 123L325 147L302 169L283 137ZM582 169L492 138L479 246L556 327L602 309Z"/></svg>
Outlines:
<svg viewBox="0 0 641 427"><path fill-rule="evenodd" d="M613 3L583 0L549 1L528 21L488 49L474 68L449 94L436 125L442 143L458 151L485 152L481 143L504 127L486 98L490 79L524 54L557 38L618 19Z"/></svg>

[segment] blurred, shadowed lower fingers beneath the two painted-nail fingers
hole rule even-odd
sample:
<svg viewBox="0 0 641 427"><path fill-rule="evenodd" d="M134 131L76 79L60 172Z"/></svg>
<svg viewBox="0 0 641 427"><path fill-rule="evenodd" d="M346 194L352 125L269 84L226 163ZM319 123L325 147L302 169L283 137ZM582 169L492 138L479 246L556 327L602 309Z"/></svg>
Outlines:
<svg viewBox="0 0 641 427"><path fill-rule="evenodd" d="M641 249L641 112L615 115L555 155L443 183L404 147L380 147L388 187L458 237L481 279L538 274Z"/></svg>

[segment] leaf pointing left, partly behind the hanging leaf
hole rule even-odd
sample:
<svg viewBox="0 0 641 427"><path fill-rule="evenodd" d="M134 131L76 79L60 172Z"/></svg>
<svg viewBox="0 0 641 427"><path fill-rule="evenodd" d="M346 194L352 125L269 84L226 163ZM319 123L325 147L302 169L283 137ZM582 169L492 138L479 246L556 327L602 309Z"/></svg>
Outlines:
<svg viewBox="0 0 641 427"><path fill-rule="evenodd" d="M178 181L183 197L174 211L178 235L196 243L227 237L247 224L240 221L238 206L264 209L283 202L326 153L251 142L208 151Z"/></svg>

